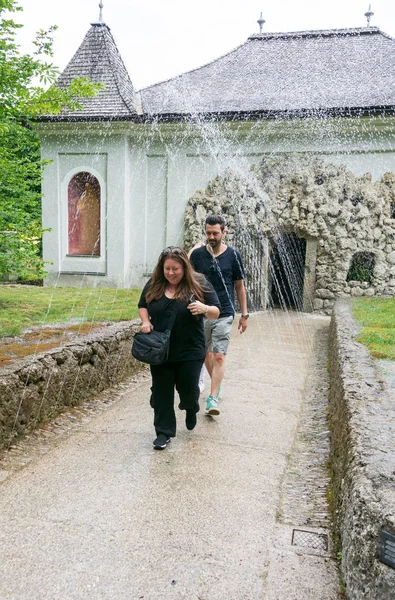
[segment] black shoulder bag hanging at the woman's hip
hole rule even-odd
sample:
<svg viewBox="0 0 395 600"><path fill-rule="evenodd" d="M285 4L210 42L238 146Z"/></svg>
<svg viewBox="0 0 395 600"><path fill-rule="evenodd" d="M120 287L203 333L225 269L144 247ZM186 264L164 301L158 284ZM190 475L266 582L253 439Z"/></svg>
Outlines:
<svg viewBox="0 0 395 600"><path fill-rule="evenodd" d="M132 356L140 362L149 365L161 365L167 361L170 349L170 334L176 318L176 307L173 306L173 314L166 331L150 333L136 333L132 344Z"/></svg>

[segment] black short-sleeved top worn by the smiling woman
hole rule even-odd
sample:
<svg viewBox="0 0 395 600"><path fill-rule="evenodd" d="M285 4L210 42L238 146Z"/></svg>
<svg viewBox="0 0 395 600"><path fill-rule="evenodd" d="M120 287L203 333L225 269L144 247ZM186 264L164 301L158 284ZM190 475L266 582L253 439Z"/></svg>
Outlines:
<svg viewBox="0 0 395 600"><path fill-rule="evenodd" d="M218 296L212 285L200 276L204 288L204 304L217 306L221 310ZM192 315L188 310L188 303L182 300L167 298L165 295L160 300L152 300L149 304L145 299L151 280L149 280L141 292L138 303L139 308L146 308L154 329L166 331L171 325L173 310L176 313L175 321L170 336L169 362L181 360L204 360L206 356L206 342L203 329L203 316ZM147 334L149 335L149 334Z"/></svg>

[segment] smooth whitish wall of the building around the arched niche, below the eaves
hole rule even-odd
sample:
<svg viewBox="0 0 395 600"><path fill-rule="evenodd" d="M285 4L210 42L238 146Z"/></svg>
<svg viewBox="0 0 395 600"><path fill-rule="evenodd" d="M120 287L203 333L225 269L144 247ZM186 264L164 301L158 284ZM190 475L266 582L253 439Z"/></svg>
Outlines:
<svg viewBox="0 0 395 600"><path fill-rule="evenodd" d="M374 178L395 172L395 119L177 124L41 124L44 259L49 285L140 287L167 245L182 244L184 210L226 168L248 176L267 154L309 152ZM100 258L67 256L67 186L90 171L102 188Z"/></svg>

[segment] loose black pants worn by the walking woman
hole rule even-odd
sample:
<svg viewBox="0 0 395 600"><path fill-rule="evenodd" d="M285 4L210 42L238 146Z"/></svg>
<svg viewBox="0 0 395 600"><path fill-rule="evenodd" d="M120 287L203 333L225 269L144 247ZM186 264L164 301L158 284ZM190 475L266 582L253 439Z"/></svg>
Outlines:
<svg viewBox="0 0 395 600"><path fill-rule="evenodd" d="M154 427L157 435L176 435L174 388L180 397L178 407L181 410L199 412L199 374L202 365L203 360L151 365L151 406L154 409Z"/></svg>

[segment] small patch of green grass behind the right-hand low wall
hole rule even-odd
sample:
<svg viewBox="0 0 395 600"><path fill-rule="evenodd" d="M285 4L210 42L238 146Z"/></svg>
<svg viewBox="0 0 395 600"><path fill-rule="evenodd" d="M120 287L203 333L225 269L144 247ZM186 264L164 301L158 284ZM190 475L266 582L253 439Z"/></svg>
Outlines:
<svg viewBox="0 0 395 600"><path fill-rule="evenodd" d="M358 342L375 358L395 360L395 298L359 298L352 311L362 325Z"/></svg>

